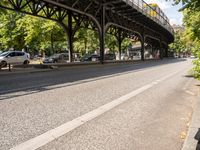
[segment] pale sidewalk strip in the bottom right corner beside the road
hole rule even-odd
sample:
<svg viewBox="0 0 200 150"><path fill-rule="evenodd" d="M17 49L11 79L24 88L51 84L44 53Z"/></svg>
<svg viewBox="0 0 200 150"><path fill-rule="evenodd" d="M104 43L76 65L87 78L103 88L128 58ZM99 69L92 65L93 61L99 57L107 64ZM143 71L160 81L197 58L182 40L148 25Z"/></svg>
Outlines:
<svg viewBox="0 0 200 150"><path fill-rule="evenodd" d="M182 150L196 150L197 140L194 139L200 128L200 97L197 98L196 107L192 116L192 121L188 130L188 136L184 142Z"/></svg>

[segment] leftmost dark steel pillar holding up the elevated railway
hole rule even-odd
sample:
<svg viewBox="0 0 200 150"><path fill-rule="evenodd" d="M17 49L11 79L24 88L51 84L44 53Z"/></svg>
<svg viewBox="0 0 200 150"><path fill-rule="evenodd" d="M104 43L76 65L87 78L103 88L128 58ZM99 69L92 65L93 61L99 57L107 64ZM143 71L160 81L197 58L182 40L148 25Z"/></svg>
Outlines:
<svg viewBox="0 0 200 150"><path fill-rule="evenodd" d="M73 62L73 30L72 30L72 12L68 12L68 46L69 62Z"/></svg>

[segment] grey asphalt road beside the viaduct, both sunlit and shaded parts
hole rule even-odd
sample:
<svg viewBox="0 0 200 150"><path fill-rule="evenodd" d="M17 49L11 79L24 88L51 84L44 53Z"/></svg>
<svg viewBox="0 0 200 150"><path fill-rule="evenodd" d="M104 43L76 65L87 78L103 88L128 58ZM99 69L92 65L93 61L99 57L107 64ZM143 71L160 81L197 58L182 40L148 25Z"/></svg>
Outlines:
<svg viewBox="0 0 200 150"><path fill-rule="evenodd" d="M0 149L15 147L141 88L39 149L181 149L198 94L198 82L187 77L191 67L191 60L170 59L3 75Z"/></svg>

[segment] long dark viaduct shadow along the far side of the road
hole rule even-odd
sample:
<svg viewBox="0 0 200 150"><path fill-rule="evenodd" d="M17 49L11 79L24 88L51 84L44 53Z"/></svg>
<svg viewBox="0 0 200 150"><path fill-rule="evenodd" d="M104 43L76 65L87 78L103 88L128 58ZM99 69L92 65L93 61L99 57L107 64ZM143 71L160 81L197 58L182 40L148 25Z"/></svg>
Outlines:
<svg viewBox="0 0 200 150"><path fill-rule="evenodd" d="M68 67L51 72L1 76L0 100L87 83L103 78L120 76L133 71L137 72L146 68L171 63L180 63L182 61L186 61L186 59L148 60L145 62L133 62L128 64L120 63L97 66Z"/></svg>

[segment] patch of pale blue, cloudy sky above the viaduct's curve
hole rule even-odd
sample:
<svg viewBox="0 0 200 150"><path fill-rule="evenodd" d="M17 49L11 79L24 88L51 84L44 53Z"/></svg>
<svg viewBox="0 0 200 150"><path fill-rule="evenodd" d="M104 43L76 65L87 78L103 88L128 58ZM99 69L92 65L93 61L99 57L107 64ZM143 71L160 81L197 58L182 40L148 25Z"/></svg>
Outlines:
<svg viewBox="0 0 200 150"><path fill-rule="evenodd" d="M170 24L182 25L183 15L178 10L182 7L181 4L173 6L173 0L144 0L147 3L156 3L163 10L170 20Z"/></svg>

